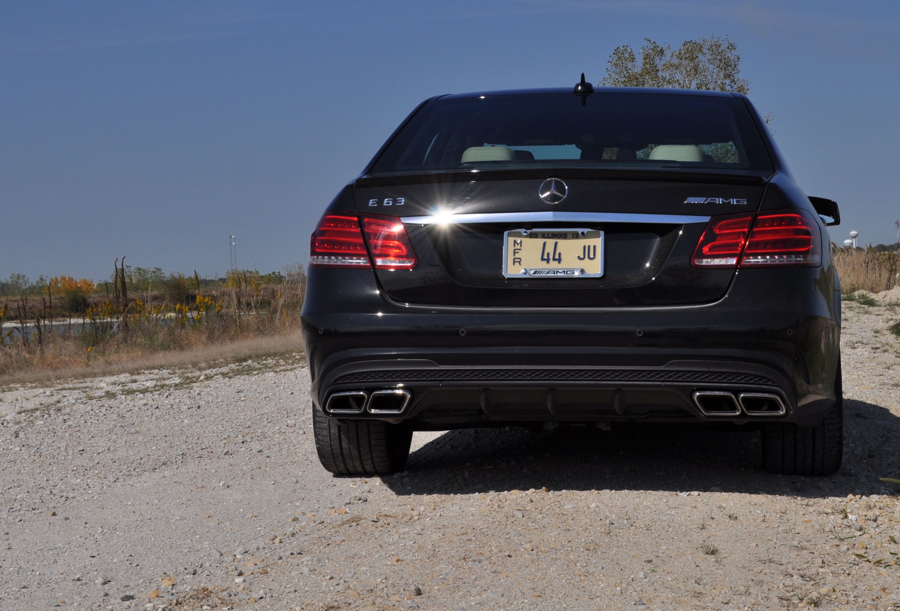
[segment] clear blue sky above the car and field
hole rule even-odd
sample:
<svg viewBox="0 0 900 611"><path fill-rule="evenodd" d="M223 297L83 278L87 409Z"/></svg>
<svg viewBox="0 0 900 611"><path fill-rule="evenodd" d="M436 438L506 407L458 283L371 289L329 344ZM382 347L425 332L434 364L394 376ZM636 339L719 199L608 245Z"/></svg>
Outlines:
<svg viewBox="0 0 900 611"><path fill-rule="evenodd" d="M620 44L731 37L806 193L863 243L900 218L900 3L0 4L0 277L112 260L303 261L322 208L422 99L597 82Z"/></svg>

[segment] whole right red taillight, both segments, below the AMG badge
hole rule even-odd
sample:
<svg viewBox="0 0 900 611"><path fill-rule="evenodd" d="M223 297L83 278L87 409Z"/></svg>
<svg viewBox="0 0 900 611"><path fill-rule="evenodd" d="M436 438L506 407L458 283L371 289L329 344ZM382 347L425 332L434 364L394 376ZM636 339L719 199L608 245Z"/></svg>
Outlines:
<svg viewBox="0 0 900 611"><path fill-rule="evenodd" d="M806 211L714 217L700 237L694 267L815 267L822 264L822 237Z"/></svg>

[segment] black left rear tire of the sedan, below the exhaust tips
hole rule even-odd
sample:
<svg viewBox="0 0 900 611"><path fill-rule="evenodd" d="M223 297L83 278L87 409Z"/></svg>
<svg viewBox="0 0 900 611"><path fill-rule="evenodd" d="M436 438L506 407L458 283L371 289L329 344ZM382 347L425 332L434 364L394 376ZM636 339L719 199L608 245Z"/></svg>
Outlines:
<svg viewBox="0 0 900 611"><path fill-rule="evenodd" d="M391 475L410 455L412 428L382 420L338 422L312 406L312 431L322 466L335 475Z"/></svg>

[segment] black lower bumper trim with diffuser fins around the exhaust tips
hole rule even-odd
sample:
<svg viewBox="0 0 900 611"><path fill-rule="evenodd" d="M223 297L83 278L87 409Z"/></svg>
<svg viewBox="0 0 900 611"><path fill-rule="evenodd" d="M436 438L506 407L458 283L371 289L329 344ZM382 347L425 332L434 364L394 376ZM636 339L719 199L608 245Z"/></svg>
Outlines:
<svg viewBox="0 0 900 611"><path fill-rule="evenodd" d="M615 420L752 422L814 417L822 399L805 397L798 413L797 396L775 369L733 361L677 361L660 367L441 366L419 360L359 361L324 373L318 404L332 394L371 394L403 389L410 393L402 413L329 414L336 418L416 418L431 425L491 421ZM696 393L727 393L735 409L713 413L701 409ZM743 409L742 396L775 398L777 413ZM817 401L810 402L810 399ZM825 401L827 402L827 400Z"/></svg>

